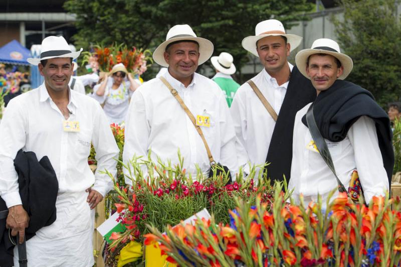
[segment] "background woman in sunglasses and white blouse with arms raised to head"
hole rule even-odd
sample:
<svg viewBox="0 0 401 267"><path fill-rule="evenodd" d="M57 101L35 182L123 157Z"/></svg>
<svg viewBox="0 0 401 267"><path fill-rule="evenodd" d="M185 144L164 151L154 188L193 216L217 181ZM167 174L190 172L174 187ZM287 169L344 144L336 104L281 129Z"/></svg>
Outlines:
<svg viewBox="0 0 401 267"><path fill-rule="evenodd" d="M95 85L92 97L103 104L110 124L121 124L128 112L129 99L139 86L125 66L119 63L113 66L100 84Z"/></svg>

